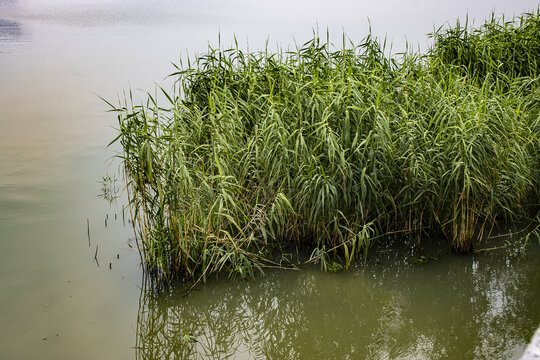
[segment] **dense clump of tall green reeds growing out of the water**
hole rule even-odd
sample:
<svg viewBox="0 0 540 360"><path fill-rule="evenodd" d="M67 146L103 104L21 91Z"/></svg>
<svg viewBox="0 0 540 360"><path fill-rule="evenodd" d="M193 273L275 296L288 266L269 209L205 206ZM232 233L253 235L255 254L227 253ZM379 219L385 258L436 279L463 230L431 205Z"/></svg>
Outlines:
<svg viewBox="0 0 540 360"><path fill-rule="evenodd" d="M177 67L166 107L128 97L115 141L144 263L167 280L253 276L294 243L348 267L384 234L468 252L495 221L528 220L539 19L440 29L423 56L386 56L371 36L210 48Z"/></svg>

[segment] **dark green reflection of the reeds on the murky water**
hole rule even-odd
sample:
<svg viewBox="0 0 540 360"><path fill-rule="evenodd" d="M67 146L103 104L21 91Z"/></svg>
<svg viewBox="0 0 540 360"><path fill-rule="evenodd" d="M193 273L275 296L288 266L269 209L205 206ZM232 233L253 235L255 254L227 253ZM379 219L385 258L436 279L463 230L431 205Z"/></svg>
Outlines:
<svg viewBox="0 0 540 360"><path fill-rule="evenodd" d="M534 260L373 264L221 279L187 297L144 283L137 359L511 359L540 320Z"/></svg>

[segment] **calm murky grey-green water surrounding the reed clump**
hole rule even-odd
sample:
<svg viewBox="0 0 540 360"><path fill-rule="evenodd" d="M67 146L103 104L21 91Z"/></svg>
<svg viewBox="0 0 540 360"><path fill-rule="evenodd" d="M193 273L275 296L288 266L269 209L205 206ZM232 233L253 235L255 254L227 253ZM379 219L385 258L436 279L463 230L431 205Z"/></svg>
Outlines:
<svg viewBox="0 0 540 360"><path fill-rule="evenodd" d="M170 62L218 33L252 49L303 43L316 26L359 41L369 18L400 51L425 48L434 25L467 11L481 22L536 5L0 0L0 358L518 357L540 322L538 246L515 258L442 252L422 266L380 254L339 274L314 267L220 278L186 297L152 291L122 199L98 197L118 149L105 150L115 118L97 95L168 86Z"/></svg>

